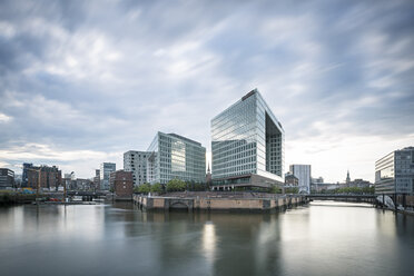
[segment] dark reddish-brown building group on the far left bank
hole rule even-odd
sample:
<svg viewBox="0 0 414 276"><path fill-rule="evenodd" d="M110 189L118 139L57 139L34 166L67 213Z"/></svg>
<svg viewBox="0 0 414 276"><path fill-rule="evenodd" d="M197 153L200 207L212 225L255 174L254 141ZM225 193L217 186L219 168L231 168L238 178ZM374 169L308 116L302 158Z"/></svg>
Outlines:
<svg viewBox="0 0 414 276"><path fill-rule="evenodd" d="M58 187L62 185L62 172L56 166L37 167L32 166L31 164L30 165L23 164L23 175L24 174L27 176L27 187L33 189L37 189L39 181L40 181L39 188L47 188L53 190L58 190Z"/></svg>

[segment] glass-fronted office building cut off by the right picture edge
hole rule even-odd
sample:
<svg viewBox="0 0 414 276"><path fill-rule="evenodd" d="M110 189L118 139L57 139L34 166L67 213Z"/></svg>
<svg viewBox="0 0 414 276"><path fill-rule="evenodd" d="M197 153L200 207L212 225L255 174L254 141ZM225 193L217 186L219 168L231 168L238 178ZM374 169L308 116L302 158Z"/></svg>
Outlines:
<svg viewBox="0 0 414 276"><path fill-rule="evenodd" d="M375 162L376 194L414 194L414 147L395 150Z"/></svg>

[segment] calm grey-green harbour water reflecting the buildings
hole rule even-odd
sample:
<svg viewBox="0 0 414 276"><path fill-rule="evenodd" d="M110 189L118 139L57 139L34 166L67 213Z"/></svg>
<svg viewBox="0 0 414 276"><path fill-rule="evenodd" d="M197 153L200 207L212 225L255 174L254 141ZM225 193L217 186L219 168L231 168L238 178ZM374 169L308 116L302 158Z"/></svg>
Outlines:
<svg viewBox="0 0 414 276"><path fill-rule="evenodd" d="M414 275L414 216L339 203L267 215L0 208L0 274Z"/></svg>

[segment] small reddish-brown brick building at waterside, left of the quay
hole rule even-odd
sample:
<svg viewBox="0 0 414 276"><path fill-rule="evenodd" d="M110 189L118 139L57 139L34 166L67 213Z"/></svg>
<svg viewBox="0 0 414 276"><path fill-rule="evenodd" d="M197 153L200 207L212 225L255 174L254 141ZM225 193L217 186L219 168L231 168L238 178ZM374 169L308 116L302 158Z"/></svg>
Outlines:
<svg viewBox="0 0 414 276"><path fill-rule="evenodd" d="M110 174L110 187L117 199L132 199L134 179L132 171L117 170Z"/></svg>

